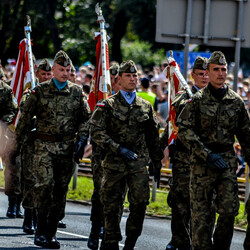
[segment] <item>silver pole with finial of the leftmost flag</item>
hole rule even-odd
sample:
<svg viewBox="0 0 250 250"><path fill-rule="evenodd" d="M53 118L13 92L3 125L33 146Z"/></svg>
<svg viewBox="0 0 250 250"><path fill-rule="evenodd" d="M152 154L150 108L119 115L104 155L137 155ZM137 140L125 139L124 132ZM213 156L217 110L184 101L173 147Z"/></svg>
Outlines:
<svg viewBox="0 0 250 250"><path fill-rule="evenodd" d="M29 69L30 69L30 79L31 79L31 88L35 87L35 74L34 74L34 65L32 59L32 50L31 50L31 20L30 17L27 15L27 26L24 26L24 33L27 38L27 47L28 47L28 59L29 59Z"/></svg>

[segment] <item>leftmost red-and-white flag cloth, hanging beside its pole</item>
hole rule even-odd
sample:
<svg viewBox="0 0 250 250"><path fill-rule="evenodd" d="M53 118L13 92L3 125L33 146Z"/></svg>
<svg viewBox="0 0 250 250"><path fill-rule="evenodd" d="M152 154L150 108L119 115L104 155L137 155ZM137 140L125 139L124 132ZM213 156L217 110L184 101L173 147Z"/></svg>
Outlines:
<svg viewBox="0 0 250 250"><path fill-rule="evenodd" d="M20 104L23 92L27 88L31 88L31 72L29 66L27 43L28 40L26 38L19 43L19 54L17 64L10 84L18 105ZM20 115L21 113L19 111L14 121L15 127L20 118Z"/></svg>

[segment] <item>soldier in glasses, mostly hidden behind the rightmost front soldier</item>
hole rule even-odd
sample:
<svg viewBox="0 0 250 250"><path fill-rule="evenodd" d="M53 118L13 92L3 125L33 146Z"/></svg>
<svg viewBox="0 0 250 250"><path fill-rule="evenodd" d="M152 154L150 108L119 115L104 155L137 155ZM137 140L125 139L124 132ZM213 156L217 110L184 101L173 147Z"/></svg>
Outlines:
<svg viewBox="0 0 250 250"><path fill-rule="evenodd" d="M208 75L205 74L207 69L207 58L197 57L193 70L192 77L194 85L192 93L195 94L199 89L204 88L208 84ZM176 94L172 102L175 109L176 117L179 116L183 107L186 105L190 96L186 91L180 91ZM162 149L165 149L168 144L168 127L163 132L160 139ZM168 243L166 250L171 249L190 249L190 197L189 197L189 182L190 182L190 159L188 149L181 143L178 138L171 148L172 167L172 185L168 195L168 205L172 208L171 230L172 239Z"/></svg>

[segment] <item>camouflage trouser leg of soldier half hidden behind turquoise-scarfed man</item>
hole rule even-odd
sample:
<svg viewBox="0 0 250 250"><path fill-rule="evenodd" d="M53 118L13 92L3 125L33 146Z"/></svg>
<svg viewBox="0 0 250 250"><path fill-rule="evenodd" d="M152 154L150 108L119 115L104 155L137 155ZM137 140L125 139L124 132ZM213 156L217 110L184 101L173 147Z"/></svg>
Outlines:
<svg viewBox="0 0 250 250"><path fill-rule="evenodd" d="M34 208L34 143L25 142L21 152L23 207Z"/></svg>

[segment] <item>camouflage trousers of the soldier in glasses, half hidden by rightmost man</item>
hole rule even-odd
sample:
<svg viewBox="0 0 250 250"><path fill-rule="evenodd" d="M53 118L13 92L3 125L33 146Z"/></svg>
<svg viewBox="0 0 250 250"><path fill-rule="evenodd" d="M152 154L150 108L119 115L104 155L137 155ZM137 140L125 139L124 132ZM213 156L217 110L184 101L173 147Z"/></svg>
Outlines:
<svg viewBox="0 0 250 250"><path fill-rule="evenodd" d="M174 161L172 174L172 184L168 194L168 205L172 208L171 241L175 247L187 247L191 245L190 165Z"/></svg>

